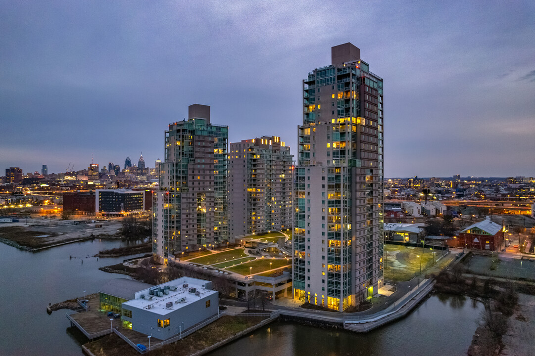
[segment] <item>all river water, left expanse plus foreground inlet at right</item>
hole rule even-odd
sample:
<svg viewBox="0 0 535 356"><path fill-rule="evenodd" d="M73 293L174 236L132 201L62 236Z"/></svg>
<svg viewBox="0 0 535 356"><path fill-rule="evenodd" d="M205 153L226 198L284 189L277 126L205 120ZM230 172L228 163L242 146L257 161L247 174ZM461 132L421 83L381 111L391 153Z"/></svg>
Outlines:
<svg viewBox="0 0 535 356"><path fill-rule="evenodd" d="M125 244L95 239L32 253L0 243L0 355L82 355L85 336L70 327L65 310L48 315L46 306L120 277L98 267L127 257L90 256ZM468 298L433 295L407 318L362 335L275 322L210 356L465 355L482 309Z"/></svg>

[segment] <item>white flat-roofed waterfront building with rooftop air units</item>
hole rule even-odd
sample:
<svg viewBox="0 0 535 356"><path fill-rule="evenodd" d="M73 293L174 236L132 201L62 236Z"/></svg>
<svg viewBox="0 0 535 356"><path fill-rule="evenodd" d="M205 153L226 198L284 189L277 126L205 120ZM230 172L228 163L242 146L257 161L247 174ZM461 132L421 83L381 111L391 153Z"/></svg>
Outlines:
<svg viewBox="0 0 535 356"><path fill-rule="evenodd" d="M181 277L143 289L123 303L123 326L166 340L217 314L212 282Z"/></svg>

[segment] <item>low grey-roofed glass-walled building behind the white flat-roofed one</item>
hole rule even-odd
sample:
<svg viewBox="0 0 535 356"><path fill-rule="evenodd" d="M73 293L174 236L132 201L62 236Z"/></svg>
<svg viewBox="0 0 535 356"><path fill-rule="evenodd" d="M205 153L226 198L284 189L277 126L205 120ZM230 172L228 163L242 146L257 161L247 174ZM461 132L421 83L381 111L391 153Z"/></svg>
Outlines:
<svg viewBox="0 0 535 356"><path fill-rule="evenodd" d="M154 285L127 280L126 278L115 278L98 290L98 307L101 312L122 314L121 305L125 301L134 299L135 292L151 287L154 287Z"/></svg>

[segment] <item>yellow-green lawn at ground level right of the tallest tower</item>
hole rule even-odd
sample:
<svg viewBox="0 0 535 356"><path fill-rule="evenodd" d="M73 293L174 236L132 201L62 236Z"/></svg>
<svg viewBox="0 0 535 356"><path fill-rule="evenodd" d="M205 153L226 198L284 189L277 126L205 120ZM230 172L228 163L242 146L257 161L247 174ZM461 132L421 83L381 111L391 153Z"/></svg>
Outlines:
<svg viewBox="0 0 535 356"><path fill-rule="evenodd" d="M395 254L396 252L397 254ZM383 257L385 278L395 281L410 281L420 273L420 266L422 266L422 273L425 273L425 267L433 264L431 252L427 248L408 249L400 245L385 244L385 256ZM435 259L438 256L438 253L435 253Z"/></svg>

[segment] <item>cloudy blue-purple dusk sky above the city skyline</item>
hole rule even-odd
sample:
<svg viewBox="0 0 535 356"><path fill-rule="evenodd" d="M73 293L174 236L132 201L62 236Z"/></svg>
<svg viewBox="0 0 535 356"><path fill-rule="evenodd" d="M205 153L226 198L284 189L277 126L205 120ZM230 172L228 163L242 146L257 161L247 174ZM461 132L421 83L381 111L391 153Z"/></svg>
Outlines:
<svg viewBox="0 0 535 356"><path fill-rule="evenodd" d="M0 175L164 159L211 106L297 156L302 80L351 42L384 79L385 177L535 176L533 1L0 0Z"/></svg>

